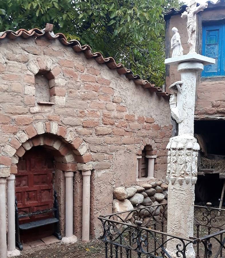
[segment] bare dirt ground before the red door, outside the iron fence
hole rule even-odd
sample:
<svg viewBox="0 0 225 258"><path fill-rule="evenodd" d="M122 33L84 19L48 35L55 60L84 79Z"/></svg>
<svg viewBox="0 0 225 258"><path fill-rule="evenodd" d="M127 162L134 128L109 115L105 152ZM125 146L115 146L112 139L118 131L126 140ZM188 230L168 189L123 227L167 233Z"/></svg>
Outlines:
<svg viewBox="0 0 225 258"><path fill-rule="evenodd" d="M75 243L65 245L62 243L39 246L21 252L19 258L105 258L105 247L101 241L95 240L87 244Z"/></svg>

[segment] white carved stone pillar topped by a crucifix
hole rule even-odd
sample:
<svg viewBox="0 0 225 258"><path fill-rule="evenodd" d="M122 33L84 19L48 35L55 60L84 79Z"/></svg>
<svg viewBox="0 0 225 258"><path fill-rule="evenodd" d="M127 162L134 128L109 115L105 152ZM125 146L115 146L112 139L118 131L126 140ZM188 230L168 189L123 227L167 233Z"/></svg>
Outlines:
<svg viewBox="0 0 225 258"><path fill-rule="evenodd" d="M170 138L167 145L167 180L169 183L167 232L184 238L193 236L194 184L197 181L197 161L200 148L194 138L196 78L205 64L215 63L215 59L195 52L196 13L205 8L207 5L196 7L196 1L191 1L190 7L187 7L186 12L182 15L182 17L188 17L190 52L186 55L173 55L165 60L165 64L177 66L178 72L181 73L181 80L169 87L172 93L170 97L171 115L178 123L178 136ZM178 243L176 239L167 243L166 249L174 258L177 257L177 244L180 242ZM188 245L186 257L195 257L192 245Z"/></svg>

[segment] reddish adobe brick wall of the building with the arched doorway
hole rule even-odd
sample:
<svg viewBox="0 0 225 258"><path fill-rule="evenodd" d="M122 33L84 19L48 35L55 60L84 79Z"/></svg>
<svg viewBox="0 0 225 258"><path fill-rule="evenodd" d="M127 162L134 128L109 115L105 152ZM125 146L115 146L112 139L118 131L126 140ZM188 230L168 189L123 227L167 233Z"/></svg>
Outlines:
<svg viewBox="0 0 225 258"><path fill-rule="evenodd" d="M54 78L49 81L49 92L53 105L37 103L37 98L48 92L36 92L38 86L30 71L36 69L35 64L51 69ZM55 121L87 145L91 153L87 161L94 164L92 235L101 233L97 216L112 212L114 187L136 183L136 155L146 144L151 144L157 155L155 177L165 179L166 145L172 128L168 100L58 40L44 37L1 40L0 72L0 147L19 130L39 121ZM38 83L41 81L39 78ZM60 174L56 180L61 181ZM64 198L59 198L60 202ZM80 237L81 172L74 176L74 207L74 233Z"/></svg>

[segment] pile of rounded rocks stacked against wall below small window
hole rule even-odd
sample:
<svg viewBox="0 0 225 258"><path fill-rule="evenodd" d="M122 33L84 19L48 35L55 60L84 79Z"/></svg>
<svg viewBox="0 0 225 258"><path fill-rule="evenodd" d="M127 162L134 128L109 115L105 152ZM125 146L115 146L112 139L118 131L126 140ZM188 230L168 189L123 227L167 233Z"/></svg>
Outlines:
<svg viewBox="0 0 225 258"><path fill-rule="evenodd" d="M166 183L150 182L131 187L117 187L113 191L113 213L126 212L150 205L167 203L168 185ZM155 214L155 213L154 213ZM122 218L126 217L122 214ZM155 214L158 215L158 214Z"/></svg>

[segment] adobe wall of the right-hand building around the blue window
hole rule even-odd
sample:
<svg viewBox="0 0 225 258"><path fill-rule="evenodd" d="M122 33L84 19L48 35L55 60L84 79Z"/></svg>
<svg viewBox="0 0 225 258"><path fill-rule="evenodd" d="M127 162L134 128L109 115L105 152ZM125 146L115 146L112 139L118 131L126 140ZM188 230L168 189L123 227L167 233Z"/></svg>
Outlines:
<svg viewBox="0 0 225 258"><path fill-rule="evenodd" d="M197 41L196 49L198 53L202 53L202 23L207 21L220 21L225 19L224 8L220 9L206 9L197 15ZM172 27L177 27L181 36L182 46L184 48L184 54L188 53L188 34L186 30L186 19L181 19L180 15L174 15L167 21L166 26L166 56L171 57L172 51L170 50L170 39L172 37ZM169 46L169 47L168 47ZM180 74L177 73L177 69L172 66L166 67L166 89L174 83L180 80ZM218 116L224 116L225 113L225 79L224 77L210 77L197 79L196 87L196 110L195 116L198 119L201 118L215 118Z"/></svg>

